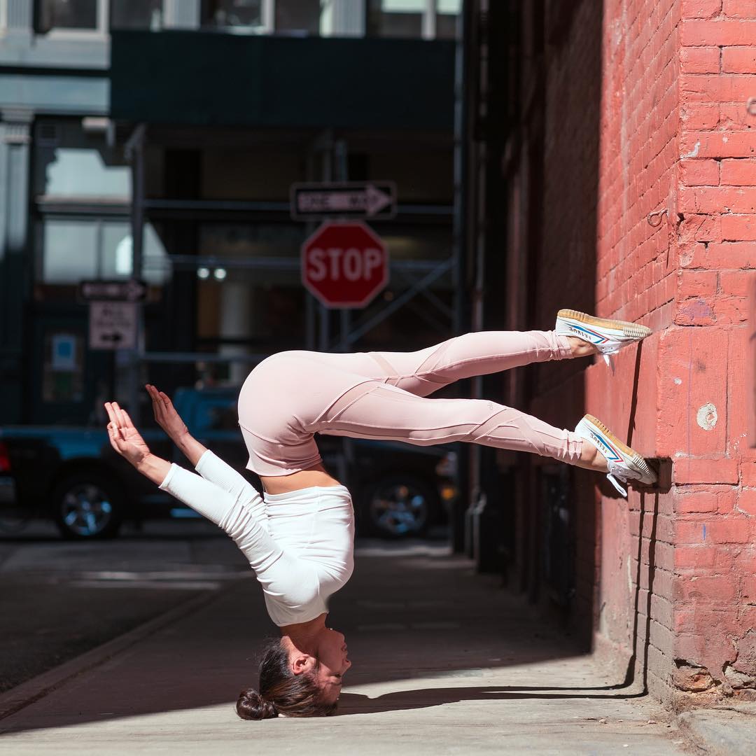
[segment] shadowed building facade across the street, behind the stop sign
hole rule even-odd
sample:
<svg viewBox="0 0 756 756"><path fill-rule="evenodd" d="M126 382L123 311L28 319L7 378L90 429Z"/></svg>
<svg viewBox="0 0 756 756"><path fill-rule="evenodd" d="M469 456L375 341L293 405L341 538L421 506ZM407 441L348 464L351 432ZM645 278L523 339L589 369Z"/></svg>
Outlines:
<svg viewBox="0 0 756 756"><path fill-rule="evenodd" d="M151 380L238 384L282 349L419 348L454 324L454 34L417 0L0 2L0 422L98 423ZM299 181L393 181L388 287L305 293ZM90 349L82 280L148 286ZM411 327L407 327L411 324Z"/></svg>

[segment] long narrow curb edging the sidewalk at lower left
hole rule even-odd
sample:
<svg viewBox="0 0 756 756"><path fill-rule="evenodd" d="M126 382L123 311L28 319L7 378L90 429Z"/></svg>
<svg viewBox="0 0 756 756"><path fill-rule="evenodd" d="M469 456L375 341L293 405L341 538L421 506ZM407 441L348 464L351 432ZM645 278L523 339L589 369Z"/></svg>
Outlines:
<svg viewBox="0 0 756 756"><path fill-rule="evenodd" d="M7 719L27 706L45 698L45 696L49 696L50 693L66 686L76 677L98 668L114 656L135 646L144 638L162 630L163 627L168 627L187 615L198 612L208 604L218 600L231 587L231 584L221 590L211 591L201 596L193 596L167 612L138 625L128 633L119 635L113 640L107 641L107 643L102 643L101 646L95 646L94 649L90 649L68 662L11 688L0 696L0 720Z"/></svg>

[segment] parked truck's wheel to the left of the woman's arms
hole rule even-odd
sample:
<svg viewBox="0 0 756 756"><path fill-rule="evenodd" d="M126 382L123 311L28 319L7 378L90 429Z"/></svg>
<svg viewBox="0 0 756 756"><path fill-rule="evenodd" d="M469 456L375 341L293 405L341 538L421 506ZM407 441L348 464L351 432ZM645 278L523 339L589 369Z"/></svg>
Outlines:
<svg viewBox="0 0 756 756"><path fill-rule="evenodd" d="M113 538L123 518L116 482L100 472L79 472L52 494L52 514L64 538Z"/></svg>

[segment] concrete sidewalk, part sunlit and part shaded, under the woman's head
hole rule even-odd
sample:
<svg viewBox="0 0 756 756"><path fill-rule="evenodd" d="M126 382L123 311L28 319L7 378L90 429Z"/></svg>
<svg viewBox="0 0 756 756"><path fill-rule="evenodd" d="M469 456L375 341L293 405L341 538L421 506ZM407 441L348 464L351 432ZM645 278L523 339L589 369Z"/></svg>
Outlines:
<svg viewBox="0 0 756 756"><path fill-rule="evenodd" d="M238 691L257 683L259 640L275 632L256 581L241 579L3 696L0 711L21 708L0 720L0 751L691 752L658 705L612 687L466 559L432 547L362 551L331 606L353 662L338 716L236 716Z"/></svg>

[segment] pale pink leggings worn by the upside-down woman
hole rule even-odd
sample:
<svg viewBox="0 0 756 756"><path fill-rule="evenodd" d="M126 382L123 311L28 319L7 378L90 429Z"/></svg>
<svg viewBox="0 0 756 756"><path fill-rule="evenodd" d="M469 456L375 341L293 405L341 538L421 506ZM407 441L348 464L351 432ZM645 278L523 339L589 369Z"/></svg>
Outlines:
<svg viewBox="0 0 756 756"><path fill-rule="evenodd" d="M420 352L279 352L239 395L247 467L282 476L321 461L314 433L427 446L463 441L575 463L581 439L483 399L429 399L460 378L571 357L553 331L466 333Z"/></svg>

